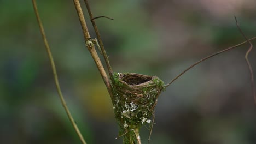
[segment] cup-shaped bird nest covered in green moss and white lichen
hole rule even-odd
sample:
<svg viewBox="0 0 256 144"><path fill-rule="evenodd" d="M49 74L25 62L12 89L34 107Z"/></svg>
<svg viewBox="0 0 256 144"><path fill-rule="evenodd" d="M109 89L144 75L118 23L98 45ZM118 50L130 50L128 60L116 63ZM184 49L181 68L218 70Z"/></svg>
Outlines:
<svg viewBox="0 0 256 144"><path fill-rule="evenodd" d="M156 76L135 73L114 73L112 76L113 105L119 123L120 135L151 123L157 98L165 83ZM126 134L129 135L129 134ZM130 136L131 137L134 136ZM130 140L129 140L130 141Z"/></svg>

